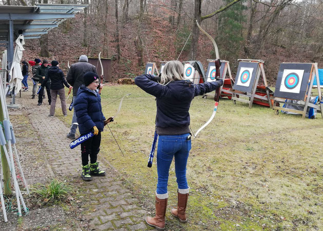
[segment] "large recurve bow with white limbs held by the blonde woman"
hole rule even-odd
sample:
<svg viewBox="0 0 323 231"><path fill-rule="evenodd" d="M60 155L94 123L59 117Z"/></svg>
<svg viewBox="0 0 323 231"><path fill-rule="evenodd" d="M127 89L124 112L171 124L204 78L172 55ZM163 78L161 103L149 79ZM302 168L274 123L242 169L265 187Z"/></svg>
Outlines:
<svg viewBox="0 0 323 231"><path fill-rule="evenodd" d="M221 66L221 62L220 62L220 57L219 57L219 49L218 49L218 46L217 44L215 43L215 40L213 39L213 37L206 33L205 30L203 30L201 28L201 26L199 25L199 23L197 22L196 20L196 24L198 26L198 28L208 37L211 39L212 43L213 43L213 46L214 46L214 50L215 50L215 55L216 55L216 60L215 60L215 73L216 73L216 78L219 79L220 78L220 66ZM195 133L194 135L194 138L196 138L197 134L199 134L200 131L202 131L214 118L215 114L217 113L217 108L218 108L218 104L219 104L219 98L220 98L220 88L217 88L216 91L215 91L215 95L214 95L214 101L215 101L215 104L214 104L214 110L213 110L213 114L212 116L210 117L210 119L207 120L206 123L204 123L202 125L201 128L199 128L199 130L197 130L197 132Z"/></svg>

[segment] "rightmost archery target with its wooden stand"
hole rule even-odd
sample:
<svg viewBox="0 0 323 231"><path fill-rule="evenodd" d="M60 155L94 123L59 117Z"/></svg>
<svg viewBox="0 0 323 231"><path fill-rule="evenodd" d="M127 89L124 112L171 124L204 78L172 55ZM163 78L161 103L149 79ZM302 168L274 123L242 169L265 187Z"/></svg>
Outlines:
<svg viewBox="0 0 323 231"><path fill-rule="evenodd" d="M283 110L301 114L302 118L305 118L308 107L311 107L317 109L323 118L323 102L319 81L317 81L318 102L316 104L309 102L315 75L318 76L316 62L310 64L283 62L280 64L274 94L273 109L275 110L275 114L278 115L279 110ZM302 106L303 110L280 107L280 103L285 103L286 99L298 100L297 103L289 102L288 104Z"/></svg>

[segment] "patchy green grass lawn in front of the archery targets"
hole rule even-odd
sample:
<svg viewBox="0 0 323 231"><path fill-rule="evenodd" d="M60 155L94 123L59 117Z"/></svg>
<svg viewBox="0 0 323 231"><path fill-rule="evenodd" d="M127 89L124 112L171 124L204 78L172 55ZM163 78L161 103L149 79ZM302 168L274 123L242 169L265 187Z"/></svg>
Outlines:
<svg viewBox="0 0 323 231"><path fill-rule="evenodd" d="M102 90L108 128L101 151L124 176L145 208L155 212L156 158L147 167L155 131L156 101L137 86ZM211 93L210 93L211 95ZM213 93L212 93L213 95ZM71 99L69 99L70 101ZM68 102L69 103L69 102ZM196 97L191 104L191 128L196 132L212 115L213 97ZM71 112L64 119L71 121ZM169 172L166 228L172 230L315 230L323 227L323 119L301 119L254 104L220 99L213 121L192 140L187 164L191 187L188 219L180 224L170 215L177 204L174 163ZM156 153L155 153L156 154Z"/></svg>

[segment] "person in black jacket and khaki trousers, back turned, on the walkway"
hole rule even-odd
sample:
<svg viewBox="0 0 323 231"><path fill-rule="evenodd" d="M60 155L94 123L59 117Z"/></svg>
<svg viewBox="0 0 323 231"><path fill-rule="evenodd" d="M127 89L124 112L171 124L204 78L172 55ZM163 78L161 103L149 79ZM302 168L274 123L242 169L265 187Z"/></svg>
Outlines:
<svg viewBox="0 0 323 231"><path fill-rule="evenodd" d="M51 67L48 69L46 77L41 85L41 87L44 88L44 86L46 86L47 81L48 80L51 81L51 84L50 84L51 104L50 104L49 115L48 115L49 117L54 117L56 99L58 94L60 95L60 99L61 99L63 115L67 116L64 85L67 88L70 88L70 89L73 88L72 86L68 85L64 77L63 71L58 66L59 66L58 61L56 60L51 61Z"/></svg>

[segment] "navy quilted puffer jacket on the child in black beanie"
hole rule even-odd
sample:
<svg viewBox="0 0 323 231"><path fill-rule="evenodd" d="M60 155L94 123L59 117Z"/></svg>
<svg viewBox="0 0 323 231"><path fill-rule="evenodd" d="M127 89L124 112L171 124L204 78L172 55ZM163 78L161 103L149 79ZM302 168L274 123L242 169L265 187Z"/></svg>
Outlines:
<svg viewBox="0 0 323 231"><path fill-rule="evenodd" d="M103 131L105 117L102 113L99 94L96 95L84 85L81 85L74 102L74 110L77 114L80 134L91 132L94 126L97 126L99 131Z"/></svg>

